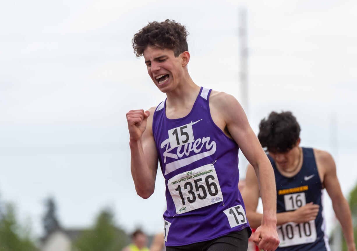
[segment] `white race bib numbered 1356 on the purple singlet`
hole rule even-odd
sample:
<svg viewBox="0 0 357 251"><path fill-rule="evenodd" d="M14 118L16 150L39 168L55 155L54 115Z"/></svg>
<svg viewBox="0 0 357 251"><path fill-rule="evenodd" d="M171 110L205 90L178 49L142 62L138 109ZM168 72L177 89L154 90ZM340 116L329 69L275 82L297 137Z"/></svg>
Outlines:
<svg viewBox="0 0 357 251"><path fill-rule="evenodd" d="M167 187L174 201L176 214L223 201L213 164L175 175L167 181Z"/></svg>

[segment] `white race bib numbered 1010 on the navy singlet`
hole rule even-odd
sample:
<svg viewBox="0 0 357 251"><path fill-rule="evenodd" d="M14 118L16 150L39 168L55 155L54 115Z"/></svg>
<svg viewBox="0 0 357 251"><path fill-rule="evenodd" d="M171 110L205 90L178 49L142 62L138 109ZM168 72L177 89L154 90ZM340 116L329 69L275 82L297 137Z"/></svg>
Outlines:
<svg viewBox="0 0 357 251"><path fill-rule="evenodd" d="M288 222L277 226L279 247L306 244L316 241L315 221L305 223Z"/></svg>

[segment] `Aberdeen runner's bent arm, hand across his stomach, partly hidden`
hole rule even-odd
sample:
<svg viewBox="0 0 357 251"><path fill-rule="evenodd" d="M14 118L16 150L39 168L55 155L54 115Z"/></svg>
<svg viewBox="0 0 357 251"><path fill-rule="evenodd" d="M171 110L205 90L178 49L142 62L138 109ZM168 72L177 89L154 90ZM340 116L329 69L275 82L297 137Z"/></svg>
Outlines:
<svg viewBox="0 0 357 251"><path fill-rule="evenodd" d="M251 165L248 165L246 174L246 185L242 192L244 204L246 207L249 224L253 228L261 225L262 214L256 212L259 197L259 187L257 177ZM276 225L282 225L287 222L307 222L315 220L318 214L319 206L308 203L295 211L281 212L276 214Z"/></svg>

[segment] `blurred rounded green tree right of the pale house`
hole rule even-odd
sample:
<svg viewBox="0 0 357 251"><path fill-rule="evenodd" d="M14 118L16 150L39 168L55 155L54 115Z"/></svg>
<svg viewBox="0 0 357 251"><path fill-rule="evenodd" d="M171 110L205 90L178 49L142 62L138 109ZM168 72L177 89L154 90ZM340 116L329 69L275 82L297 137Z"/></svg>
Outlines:
<svg viewBox="0 0 357 251"><path fill-rule="evenodd" d="M120 251L126 244L126 234L117 228L110 209L97 216L92 230L85 231L74 243L74 250Z"/></svg>

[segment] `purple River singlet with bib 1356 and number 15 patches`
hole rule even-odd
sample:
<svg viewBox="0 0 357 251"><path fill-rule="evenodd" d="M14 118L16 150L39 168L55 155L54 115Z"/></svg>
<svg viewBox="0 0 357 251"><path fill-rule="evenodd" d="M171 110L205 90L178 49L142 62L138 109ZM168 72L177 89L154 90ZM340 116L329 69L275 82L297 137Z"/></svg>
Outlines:
<svg viewBox="0 0 357 251"><path fill-rule="evenodd" d="M239 147L213 122L210 93L201 87L192 110L180 119L166 117L165 101L154 113L152 132L166 184L166 246L249 227L238 190Z"/></svg>

